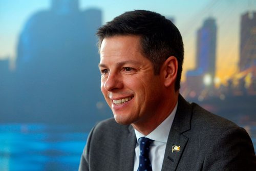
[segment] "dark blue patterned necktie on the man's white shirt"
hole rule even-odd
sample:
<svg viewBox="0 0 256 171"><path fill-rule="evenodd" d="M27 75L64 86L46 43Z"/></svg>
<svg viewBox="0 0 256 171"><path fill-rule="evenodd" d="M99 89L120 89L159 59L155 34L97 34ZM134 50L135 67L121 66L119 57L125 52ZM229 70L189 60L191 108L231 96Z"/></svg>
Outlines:
<svg viewBox="0 0 256 171"><path fill-rule="evenodd" d="M152 166L148 154L150 152L150 144L153 140L145 137L139 139L140 142L140 163L138 171L152 171Z"/></svg>

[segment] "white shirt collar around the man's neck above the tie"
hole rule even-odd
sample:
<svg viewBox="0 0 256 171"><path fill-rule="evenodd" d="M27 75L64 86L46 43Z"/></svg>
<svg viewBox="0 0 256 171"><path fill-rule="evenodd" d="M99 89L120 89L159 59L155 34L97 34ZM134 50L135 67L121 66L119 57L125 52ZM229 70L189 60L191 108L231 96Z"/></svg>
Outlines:
<svg viewBox="0 0 256 171"><path fill-rule="evenodd" d="M170 113L170 115L160 125L158 125L154 131L152 131L147 136L141 134L139 131L134 129L135 135L137 138L137 142L138 142L139 138L147 137L154 141L160 141L160 142L167 143L170 128L172 127L174 117L175 117L175 114L177 111L177 106L178 106L178 102L176 103L176 106L175 106L174 110L172 111L172 113Z"/></svg>

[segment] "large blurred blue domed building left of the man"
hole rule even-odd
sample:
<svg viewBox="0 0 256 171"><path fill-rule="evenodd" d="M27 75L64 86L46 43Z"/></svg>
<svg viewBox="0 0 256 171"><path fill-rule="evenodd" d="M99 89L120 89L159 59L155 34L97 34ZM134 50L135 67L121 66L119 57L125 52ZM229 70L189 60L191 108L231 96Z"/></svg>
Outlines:
<svg viewBox="0 0 256 171"><path fill-rule="evenodd" d="M22 122L94 124L109 117L95 36L101 15L100 9L80 10L78 0L52 0L51 8L27 20L17 45L13 99Z"/></svg>

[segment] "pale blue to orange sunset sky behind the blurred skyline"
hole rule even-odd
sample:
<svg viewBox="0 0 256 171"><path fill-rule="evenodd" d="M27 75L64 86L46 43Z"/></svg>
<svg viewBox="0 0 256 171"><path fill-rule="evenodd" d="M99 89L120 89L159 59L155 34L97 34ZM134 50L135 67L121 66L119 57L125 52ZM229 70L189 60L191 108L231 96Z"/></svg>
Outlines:
<svg viewBox="0 0 256 171"><path fill-rule="evenodd" d="M195 68L196 32L205 19L217 22L217 76L221 82L237 71L239 61L239 32L241 15L256 12L253 0L80 0L80 10L102 10L103 24L125 11L145 9L173 17L180 30L185 48L184 72ZM0 1L0 59L15 59L17 38L28 18L35 12L48 10L51 0Z"/></svg>

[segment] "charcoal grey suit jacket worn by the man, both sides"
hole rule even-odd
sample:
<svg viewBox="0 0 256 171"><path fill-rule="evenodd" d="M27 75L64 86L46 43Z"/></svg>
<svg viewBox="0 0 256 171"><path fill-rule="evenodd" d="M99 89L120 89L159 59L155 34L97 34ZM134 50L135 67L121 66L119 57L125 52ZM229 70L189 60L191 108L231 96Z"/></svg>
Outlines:
<svg viewBox="0 0 256 171"><path fill-rule="evenodd" d="M79 170L133 170L136 136L131 125L114 119L91 131ZM179 145L180 151L172 151ZM162 170L256 170L256 157L247 132L179 96ZM158 171L158 170L155 170Z"/></svg>

